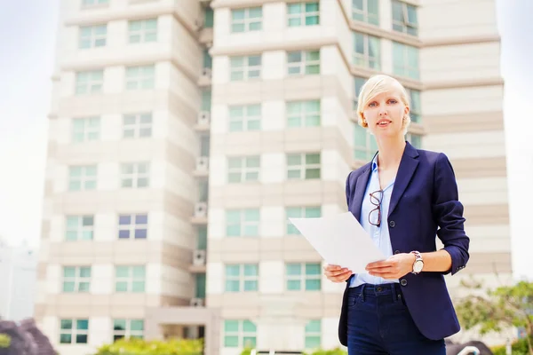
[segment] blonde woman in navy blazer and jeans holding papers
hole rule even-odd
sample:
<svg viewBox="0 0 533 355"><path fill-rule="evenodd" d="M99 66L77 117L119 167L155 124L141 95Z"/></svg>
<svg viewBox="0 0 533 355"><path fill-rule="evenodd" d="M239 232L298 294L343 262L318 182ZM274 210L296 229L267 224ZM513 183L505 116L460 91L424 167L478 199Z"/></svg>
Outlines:
<svg viewBox="0 0 533 355"><path fill-rule="evenodd" d="M445 355L444 338L460 328L443 274L469 258L463 205L446 155L405 141L409 111L394 78L375 75L363 85L358 121L378 153L350 172L346 201L386 260L368 264L368 273L324 268L329 280L346 281L338 336L349 355Z"/></svg>

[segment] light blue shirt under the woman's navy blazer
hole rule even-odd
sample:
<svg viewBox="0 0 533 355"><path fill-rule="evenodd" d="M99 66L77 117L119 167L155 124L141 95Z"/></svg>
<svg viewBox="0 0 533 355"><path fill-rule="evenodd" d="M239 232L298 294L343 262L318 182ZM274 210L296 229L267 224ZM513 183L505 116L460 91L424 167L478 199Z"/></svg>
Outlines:
<svg viewBox="0 0 533 355"><path fill-rule="evenodd" d="M362 199L361 207L361 225L364 230L369 233L370 238L374 244L381 250L381 252L387 257L393 256L393 246L391 244L391 236L388 230L388 210L391 202L391 195L394 188L394 180L386 185L383 189L383 197L381 199L381 223L379 226L371 225L369 222L369 214L376 206L370 202L370 193L380 190L379 187L379 174L378 174L378 155L372 160L372 171L370 172L369 184L367 185L364 197ZM374 216L375 215L375 216ZM372 213L372 217L377 217L378 211ZM354 277L350 281L350 287L354 288L363 283L370 283L374 285L399 282L399 280L385 280L377 276L371 276L369 273L355 273Z"/></svg>

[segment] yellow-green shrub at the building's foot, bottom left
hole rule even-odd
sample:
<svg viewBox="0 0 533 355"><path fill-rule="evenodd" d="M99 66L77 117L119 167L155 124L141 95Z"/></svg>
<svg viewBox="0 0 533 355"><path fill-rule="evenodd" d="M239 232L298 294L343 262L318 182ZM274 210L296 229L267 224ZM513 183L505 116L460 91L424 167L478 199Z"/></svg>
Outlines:
<svg viewBox="0 0 533 355"><path fill-rule="evenodd" d="M203 340L171 339L168 341L120 339L99 347L95 355L202 355Z"/></svg>

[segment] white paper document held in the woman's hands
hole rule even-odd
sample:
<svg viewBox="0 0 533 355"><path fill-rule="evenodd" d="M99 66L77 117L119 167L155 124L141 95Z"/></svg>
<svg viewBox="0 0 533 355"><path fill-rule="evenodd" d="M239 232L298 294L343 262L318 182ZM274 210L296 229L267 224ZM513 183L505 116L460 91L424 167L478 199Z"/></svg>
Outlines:
<svg viewBox="0 0 533 355"><path fill-rule="evenodd" d="M368 273L367 264L386 259L352 212L289 220L328 264L346 267L354 273Z"/></svg>

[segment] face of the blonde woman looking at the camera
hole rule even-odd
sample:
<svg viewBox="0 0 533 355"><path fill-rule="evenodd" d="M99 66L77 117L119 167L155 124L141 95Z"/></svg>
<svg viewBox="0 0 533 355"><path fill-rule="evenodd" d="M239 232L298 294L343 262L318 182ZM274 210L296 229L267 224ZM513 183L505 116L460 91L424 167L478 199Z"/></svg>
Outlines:
<svg viewBox="0 0 533 355"><path fill-rule="evenodd" d="M370 99L363 108L362 116L376 137L403 136L403 117L409 107L400 98L400 91L393 88Z"/></svg>

